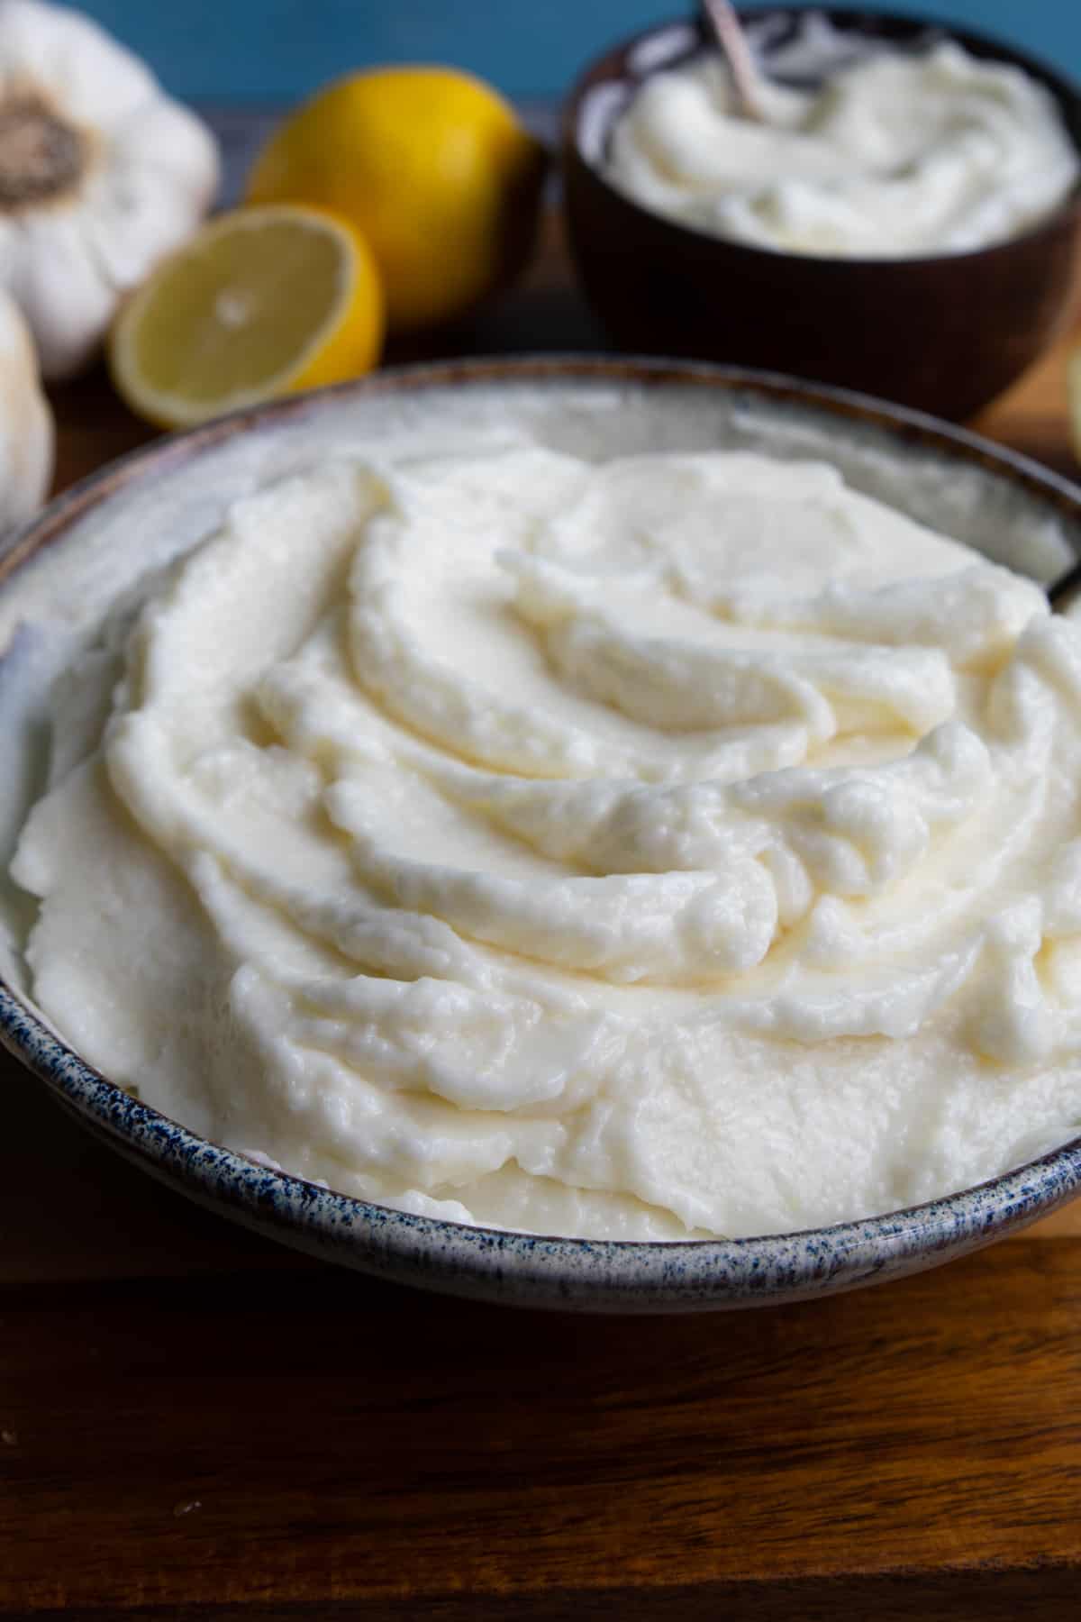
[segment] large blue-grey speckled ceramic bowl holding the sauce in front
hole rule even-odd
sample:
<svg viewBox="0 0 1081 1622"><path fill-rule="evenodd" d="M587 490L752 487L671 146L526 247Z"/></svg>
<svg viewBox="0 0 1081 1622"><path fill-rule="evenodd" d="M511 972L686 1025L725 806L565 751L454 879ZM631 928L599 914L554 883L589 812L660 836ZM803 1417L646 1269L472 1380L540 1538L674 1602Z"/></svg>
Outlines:
<svg viewBox="0 0 1081 1622"><path fill-rule="evenodd" d="M28 624L42 618L42 603L57 615L63 602L78 611L102 571L130 576L160 561L162 551L182 553L241 491L316 451L378 436L389 417L410 422L433 399L446 406L447 396L464 423L478 414L499 422L507 410L533 412L538 436L562 448L575 443L587 414L600 454L645 446L828 454L856 488L958 539L982 539L998 558L1024 558L1042 577L1081 553L1081 491L1065 480L961 430L780 376L671 362L467 362L379 373L245 412L107 467L53 501L0 553L0 874L37 792L31 740L45 678ZM0 1040L57 1101L120 1153L224 1216L381 1278L588 1312L762 1306L934 1267L1081 1189L1076 1139L930 1205L760 1239L595 1242L405 1215L258 1166L94 1071L19 989L13 908L11 887L0 887ZM45 1168L42 1184L47 1197Z"/></svg>

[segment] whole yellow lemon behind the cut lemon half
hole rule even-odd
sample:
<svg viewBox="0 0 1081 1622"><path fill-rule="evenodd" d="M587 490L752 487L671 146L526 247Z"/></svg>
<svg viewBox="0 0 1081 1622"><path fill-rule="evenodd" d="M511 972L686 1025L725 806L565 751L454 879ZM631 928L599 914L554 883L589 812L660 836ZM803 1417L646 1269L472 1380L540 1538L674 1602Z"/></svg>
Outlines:
<svg viewBox="0 0 1081 1622"><path fill-rule="evenodd" d="M318 91L256 159L248 203L308 203L368 240L392 331L460 315L533 242L545 151L488 84L376 68Z"/></svg>

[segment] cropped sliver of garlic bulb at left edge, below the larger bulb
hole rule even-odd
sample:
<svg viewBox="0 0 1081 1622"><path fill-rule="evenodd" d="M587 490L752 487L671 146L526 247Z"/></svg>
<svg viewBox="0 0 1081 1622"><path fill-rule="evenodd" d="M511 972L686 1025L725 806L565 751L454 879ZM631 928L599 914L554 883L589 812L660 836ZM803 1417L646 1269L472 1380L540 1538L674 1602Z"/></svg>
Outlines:
<svg viewBox="0 0 1081 1622"><path fill-rule="evenodd" d="M41 506L52 477L52 412L18 305L0 292L0 532Z"/></svg>

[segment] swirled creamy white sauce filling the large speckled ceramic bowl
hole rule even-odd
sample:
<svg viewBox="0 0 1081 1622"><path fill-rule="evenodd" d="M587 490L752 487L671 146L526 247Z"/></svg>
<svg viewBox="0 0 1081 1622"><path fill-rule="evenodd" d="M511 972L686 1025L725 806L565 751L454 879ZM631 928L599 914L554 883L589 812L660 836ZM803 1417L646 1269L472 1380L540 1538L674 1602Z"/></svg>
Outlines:
<svg viewBox="0 0 1081 1622"><path fill-rule="evenodd" d="M212 1137L669 1239L1081 1113L1081 631L827 466L331 462L107 644L13 869L34 994Z"/></svg>

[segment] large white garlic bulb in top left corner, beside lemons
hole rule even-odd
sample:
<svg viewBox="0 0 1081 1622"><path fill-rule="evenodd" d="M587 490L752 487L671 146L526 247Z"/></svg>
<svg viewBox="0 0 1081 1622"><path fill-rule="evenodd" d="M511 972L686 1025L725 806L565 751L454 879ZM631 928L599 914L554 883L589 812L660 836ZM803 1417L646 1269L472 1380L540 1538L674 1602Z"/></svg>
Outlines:
<svg viewBox="0 0 1081 1622"><path fill-rule="evenodd" d="M47 378L91 358L122 295L203 217L217 177L206 125L97 23L0 0L0 285Z"/></svg>

